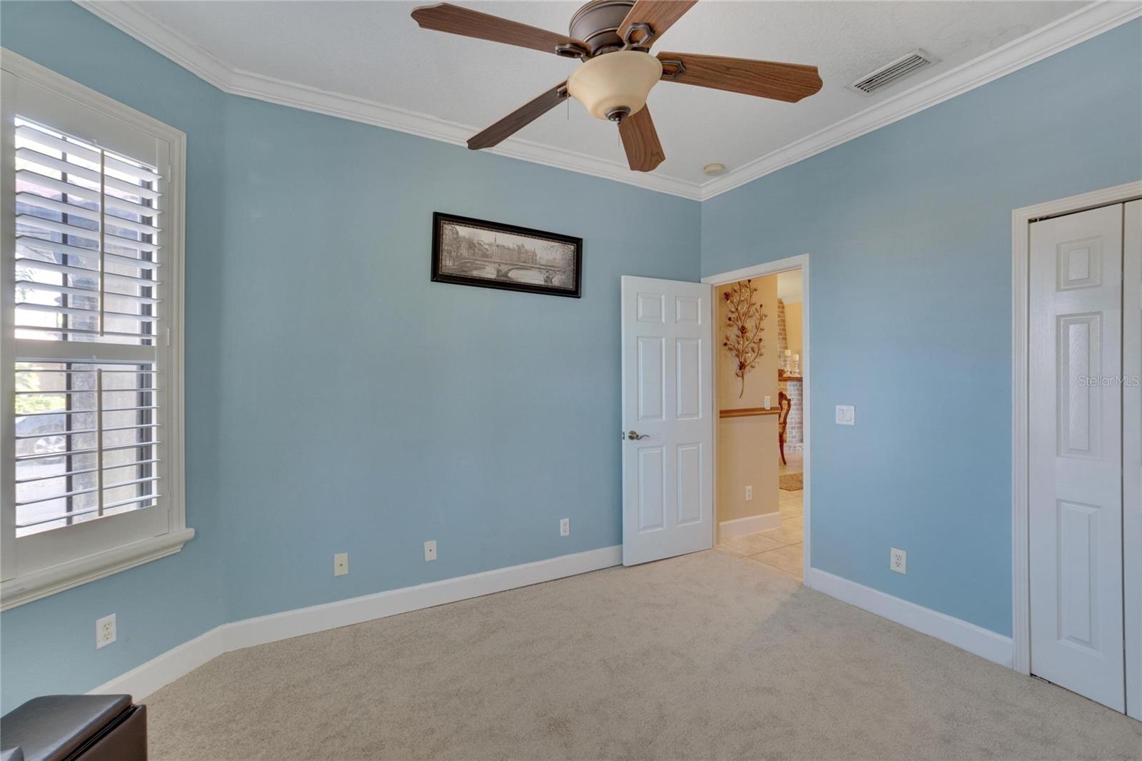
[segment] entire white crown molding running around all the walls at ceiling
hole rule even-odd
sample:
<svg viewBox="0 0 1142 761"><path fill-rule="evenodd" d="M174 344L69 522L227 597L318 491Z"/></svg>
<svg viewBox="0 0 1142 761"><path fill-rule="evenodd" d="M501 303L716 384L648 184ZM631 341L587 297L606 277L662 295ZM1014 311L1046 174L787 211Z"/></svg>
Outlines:
<svg viewBox="0 0 1142 761"><path fill-rule="evenodd" d="M453 145L463 145L477 129L375 101L234 69L158 22L140 10L136 3L106 0L75 0L75 2L225 93L395 129ZM705 201L962 95L1140 16L1142 16L1142 5L1137 2L1102 0L1091 3L1013 42L926 80L910 90L882 101L706 183L690 183L673 177L634 173L625 165L614 161L516 137L508 138L490 152Z"/></svg>

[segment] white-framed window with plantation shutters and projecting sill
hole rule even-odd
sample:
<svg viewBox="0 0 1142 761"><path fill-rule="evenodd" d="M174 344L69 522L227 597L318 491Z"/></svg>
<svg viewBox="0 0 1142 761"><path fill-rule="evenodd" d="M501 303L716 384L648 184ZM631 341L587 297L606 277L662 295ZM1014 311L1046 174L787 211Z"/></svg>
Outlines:
<svg viewBox="0 0 1142 761"><path fill-rule="evenodd" d="M185 137L5 51L2 607L177 552Z"/></svg>

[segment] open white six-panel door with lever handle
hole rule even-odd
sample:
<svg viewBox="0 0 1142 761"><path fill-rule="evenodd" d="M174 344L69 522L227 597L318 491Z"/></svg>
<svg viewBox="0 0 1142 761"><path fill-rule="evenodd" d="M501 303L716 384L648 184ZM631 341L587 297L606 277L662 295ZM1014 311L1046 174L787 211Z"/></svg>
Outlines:
<svg viewBox="0 0 1142 761"><path fill-rule="evenodd" d="M622 564L714 543L710 287L622 278Z"/></svg>

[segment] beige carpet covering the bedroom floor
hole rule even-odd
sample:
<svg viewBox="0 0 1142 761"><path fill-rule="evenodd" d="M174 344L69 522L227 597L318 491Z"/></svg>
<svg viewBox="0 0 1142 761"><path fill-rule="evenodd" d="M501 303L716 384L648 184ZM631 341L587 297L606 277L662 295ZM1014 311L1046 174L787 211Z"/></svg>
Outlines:
<svg viewBox="0 0 1142 761"><path fill-rule="evenodd" d="M152 759L1139 759L1142 723L709 551L231 652Z"/></svg>

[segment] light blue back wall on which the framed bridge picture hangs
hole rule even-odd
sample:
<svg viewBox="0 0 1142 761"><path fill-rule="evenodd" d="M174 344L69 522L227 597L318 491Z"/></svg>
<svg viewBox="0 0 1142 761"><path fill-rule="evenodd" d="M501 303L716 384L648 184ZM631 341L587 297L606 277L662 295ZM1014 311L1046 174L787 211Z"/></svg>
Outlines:
<svg viewBox="0 0 1142 761"><path fill-rule="evenodd" d="M226 117L231 617L618 544L619 275L697 280L698 203L258 101ZM582 298L429 282L434 210L582 237Z"/></svg>

